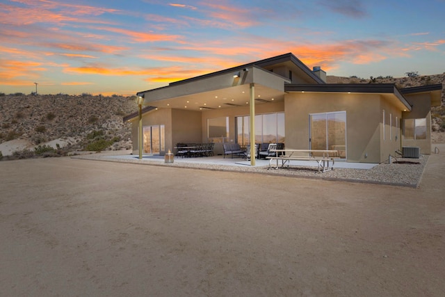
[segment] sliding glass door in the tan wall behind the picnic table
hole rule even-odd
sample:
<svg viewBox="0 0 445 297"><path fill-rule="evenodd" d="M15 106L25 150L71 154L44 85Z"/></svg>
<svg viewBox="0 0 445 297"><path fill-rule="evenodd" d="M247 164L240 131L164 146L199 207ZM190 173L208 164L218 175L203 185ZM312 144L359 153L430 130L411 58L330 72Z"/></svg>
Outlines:
<svg viewBox="0 0 445 297"><path fill-rule="evenodd" d="M309 115L311 150L337 150L346 158L346 111Z"/></svg>

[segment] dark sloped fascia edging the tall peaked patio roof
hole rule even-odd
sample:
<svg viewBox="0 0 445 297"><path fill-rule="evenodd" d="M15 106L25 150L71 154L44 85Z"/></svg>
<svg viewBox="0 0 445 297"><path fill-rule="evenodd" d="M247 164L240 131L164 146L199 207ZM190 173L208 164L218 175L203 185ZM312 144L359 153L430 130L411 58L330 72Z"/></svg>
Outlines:
<svg viewBox="0 0 445 297"><path fill-rule="evenodd" d="M302 63L296 56L294 56L292 53L288 53L288 54L282 54L280 56L275 56L272 58L266 58L260 61L256 61L256 62L252 62L252 63L247 63L247 64L243 64L243 65L239 65L236 67L231 67L225 70L220 70L217 72L211 72L208 74L203 74L200 75L198 77L191 77L190 79L183 79L181 81L174 81L172 83L169 83L168 86L163 86L161 88L155 88L152 90L159 90L162 88L168 88L169 86L177 86L177 85L181 85L183 83L189 83L191 81L199 81L200 79L206 79L209 77L214 77L220 74L225 74L225 73L230 73L230 72L236 72L236 71L240 71L243 70L244 68L248 68L248 67L253 67L253 66L257 66L260 68L264 68L268 65L273 65L273 64L277 64L277 63L284 63L287 61L291 61L292 63L294 63L295 65L297 65L298 67L300 67L300 69L302 69L307 75L309 75L309 77L311 77L312 79L314 79L314 81L316 81L317 83L325 83L322 79L320 79L319 77L317 77L314 72L312 72L309 67L307 67L304 63ZM280 76L281 77L281 76ZM138 92L136 95L142 95L144 93L147 93L149 91L152 90L145 90L142 92Z"/></svg>

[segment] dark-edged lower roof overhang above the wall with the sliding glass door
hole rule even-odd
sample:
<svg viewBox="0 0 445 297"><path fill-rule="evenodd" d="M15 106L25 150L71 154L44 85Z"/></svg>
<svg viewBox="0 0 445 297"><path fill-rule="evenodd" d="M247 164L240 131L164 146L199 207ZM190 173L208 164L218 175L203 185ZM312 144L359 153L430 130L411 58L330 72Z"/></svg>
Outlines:
<svg viewBox="0 0 445 297"><path fill-rule="evenodd" d="M361 93L380 94L390 99L401 111L411 111L412 107L393 83L325 83L318 85L289 84L284 87L286 92L312 93Z"/></svg>

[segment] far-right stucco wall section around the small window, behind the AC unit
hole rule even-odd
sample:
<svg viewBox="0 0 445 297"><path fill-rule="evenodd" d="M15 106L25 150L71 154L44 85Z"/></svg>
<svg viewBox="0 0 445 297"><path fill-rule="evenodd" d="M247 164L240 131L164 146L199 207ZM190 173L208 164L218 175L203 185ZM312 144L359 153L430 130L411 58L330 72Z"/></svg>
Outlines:
<svg viewBox="0 0 445 297"><path fill-rule="evenodd" d="M426 139L410 140L405 139L402 134L402 146L404 147L420 147L421 154L431 153L431 99L429 94L405 95L407 102L412 104L411 112L403 113L403 120L426 118ZM404 131L404 129L403 129Z"/></svg>

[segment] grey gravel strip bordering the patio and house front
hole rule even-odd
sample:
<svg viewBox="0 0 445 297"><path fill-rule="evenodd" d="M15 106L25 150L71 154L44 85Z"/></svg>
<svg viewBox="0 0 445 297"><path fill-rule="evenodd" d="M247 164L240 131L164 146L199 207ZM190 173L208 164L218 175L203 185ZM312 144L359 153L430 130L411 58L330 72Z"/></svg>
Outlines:
<svg viewBox="0 0 445 297"><path fill-rule="evenodd" d="M268 166L229 166L203 163L163 163L160 161L138 159L109 158L101 154L72 156L74 159L90 159L121 163L138 163L152 166L169 166L177 168L194 168L204 170L254 172L266 175L286 177L304 177L326 180L342 180L346 182L366 182L371 184L388 184L393 186L417 187L421 181L423 169L428 161L428 155L419 159L393 158L393 163L382 163L371 169L335 168L326 172L318 172L316 167L290 166L289 168L269 169ZM398 162L398 163L396 163Z"/></svg>

